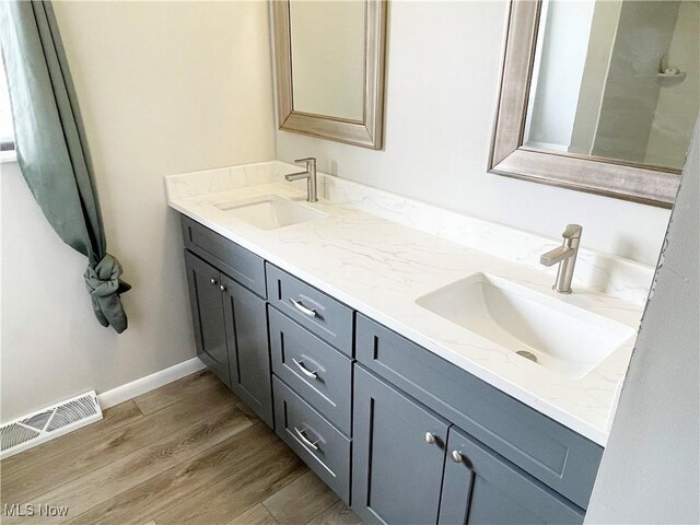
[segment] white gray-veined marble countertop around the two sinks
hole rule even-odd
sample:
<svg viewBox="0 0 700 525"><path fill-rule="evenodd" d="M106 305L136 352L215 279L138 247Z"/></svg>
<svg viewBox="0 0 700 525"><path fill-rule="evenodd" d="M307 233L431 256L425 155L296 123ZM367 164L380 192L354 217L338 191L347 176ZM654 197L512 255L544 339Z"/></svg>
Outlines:
<svg viewBox="0 0 700 525"><path fill-rule="evenodd" d="M187 196L174 189L185 176L166 177L168 203L175 210L605 446L618 386L634 345L641 304L586 289L576 289L571 295L557 294L551 290L550 272L382 219L351 203L320 199L305 206L327 213L326 218L258 230L214 205L270 194L303 202L305 192L298 189L299 184L247 180L243 184L252 185L234 189L210 185L209 192L199 190ZM632 328L634 336L590 373L572 378L416 304L418 298L475 272L506 279L598 314Z"/></svg>

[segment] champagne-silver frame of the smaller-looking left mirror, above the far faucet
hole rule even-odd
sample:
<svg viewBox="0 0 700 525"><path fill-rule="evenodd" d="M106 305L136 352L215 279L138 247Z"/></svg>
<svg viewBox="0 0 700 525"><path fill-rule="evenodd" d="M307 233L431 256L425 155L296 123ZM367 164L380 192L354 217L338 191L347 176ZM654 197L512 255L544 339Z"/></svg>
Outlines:
<svg viewBox="0 0 700 525"><path fill-rule="evenodd" d="M294 110L290 0L271 0L279 129L381 150L384 142L386 0L365 0L362 120Z"/></svg>

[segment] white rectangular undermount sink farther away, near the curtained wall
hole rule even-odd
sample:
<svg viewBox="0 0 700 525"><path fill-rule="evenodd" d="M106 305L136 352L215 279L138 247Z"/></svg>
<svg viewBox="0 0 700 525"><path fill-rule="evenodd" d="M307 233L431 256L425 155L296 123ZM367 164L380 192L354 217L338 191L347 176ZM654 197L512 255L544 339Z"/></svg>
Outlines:
<svg viewBox="0 0 700 525"><path fill-rule="evenodd" d="M264 195L245 200L231 200L214 205L226 214L235 217L260 230L276 230L301 222L328 217L293 200L277 195Z"/></svg>

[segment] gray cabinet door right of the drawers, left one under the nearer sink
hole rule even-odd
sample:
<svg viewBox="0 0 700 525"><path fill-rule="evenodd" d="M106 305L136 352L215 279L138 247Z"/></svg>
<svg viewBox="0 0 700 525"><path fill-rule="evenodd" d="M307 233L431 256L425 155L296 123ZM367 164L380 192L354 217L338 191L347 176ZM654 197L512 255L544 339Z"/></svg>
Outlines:
<svg viewBox="0 0 700 525"><path fill-rule="evenodd" d="M352 509L365 521L434 524L448 423L354 368Z"/></svg>

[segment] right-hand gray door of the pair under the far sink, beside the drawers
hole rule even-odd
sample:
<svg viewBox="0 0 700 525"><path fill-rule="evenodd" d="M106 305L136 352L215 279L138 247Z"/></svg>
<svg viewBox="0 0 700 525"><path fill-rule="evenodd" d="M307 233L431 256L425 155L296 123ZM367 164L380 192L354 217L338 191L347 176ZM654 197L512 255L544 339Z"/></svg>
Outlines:
<svg viewBox="0 0 700 525"><path fill-rule="evenodd" d="M272 428L266 302L222 273L231 388Z"/></svg>

